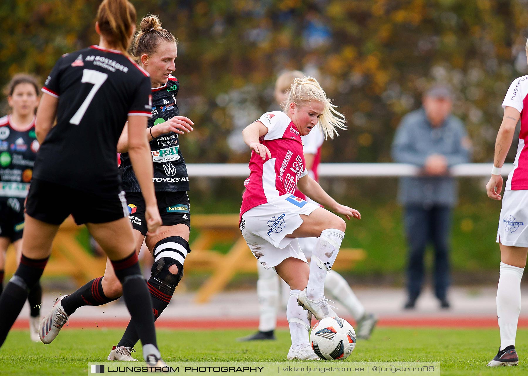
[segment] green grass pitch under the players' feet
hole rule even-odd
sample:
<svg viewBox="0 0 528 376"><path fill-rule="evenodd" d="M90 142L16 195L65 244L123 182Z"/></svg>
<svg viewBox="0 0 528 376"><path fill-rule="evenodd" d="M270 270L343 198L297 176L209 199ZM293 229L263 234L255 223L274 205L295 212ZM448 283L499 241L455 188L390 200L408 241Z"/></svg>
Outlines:
<svg viewBox="0 0 528 376"><path fill-rule="evenodd" d="M31 343L26 331L12 331L0 349L0 373L6 375L86 375L88 362L105 361L120 338L120 330L64 330L50 345ZM177 361L285 361L289 333L280 330L277 341L236 342L248 330L158 330L158 344L167 362ZM443 375L528 374L528 330L517 333L520 365L486 368L499 345L498 329L377 328L371 340L360 340L354 361L435 361ZM136 345L136 359L142 359Z"/></svg>

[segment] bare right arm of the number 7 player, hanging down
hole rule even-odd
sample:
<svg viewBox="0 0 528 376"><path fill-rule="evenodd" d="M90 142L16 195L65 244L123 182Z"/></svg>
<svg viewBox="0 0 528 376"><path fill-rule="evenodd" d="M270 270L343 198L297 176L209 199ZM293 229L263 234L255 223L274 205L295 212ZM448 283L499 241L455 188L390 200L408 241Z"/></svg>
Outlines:
<svg viewBox="0 0 528 376"><path fill-rule="evenodd" d="M139 187L145 199L145 219L149 234L156 233L162 224L159 215L156 195L154 193L154 167L152 154L145 133L147 118L145 116L128 117L128 153Z"/></svg>

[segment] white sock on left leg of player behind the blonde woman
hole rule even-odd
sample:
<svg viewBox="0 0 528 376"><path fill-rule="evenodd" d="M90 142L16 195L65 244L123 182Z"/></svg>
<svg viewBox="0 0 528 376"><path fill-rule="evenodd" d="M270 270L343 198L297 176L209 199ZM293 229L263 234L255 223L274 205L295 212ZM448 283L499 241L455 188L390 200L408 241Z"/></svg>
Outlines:
<svg viewBox="0 0 528 376"><path fill-rule="evenodd" d="M275 269L266 269L257 261L259 279L257 297L259 299L259 331L269 332L277 326L279 303L279 276Z"/></svg>

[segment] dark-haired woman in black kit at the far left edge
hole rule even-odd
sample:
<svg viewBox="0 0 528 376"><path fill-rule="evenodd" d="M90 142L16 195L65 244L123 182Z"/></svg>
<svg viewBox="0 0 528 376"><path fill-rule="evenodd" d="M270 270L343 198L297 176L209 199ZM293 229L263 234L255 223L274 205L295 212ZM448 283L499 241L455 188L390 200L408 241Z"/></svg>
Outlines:
<svg viewBox="0 0 528 376"><path fill-rule="evenodd" d="M24 200L29 190L39 142L35 135L35 110L39 105L39 83L30 74L15 74L6 90L11 114L0 118L0 294L4 281L7 247L13 243L16 260L22 256ZM29 291L30 337L39 342L42 287Z"/></svg>

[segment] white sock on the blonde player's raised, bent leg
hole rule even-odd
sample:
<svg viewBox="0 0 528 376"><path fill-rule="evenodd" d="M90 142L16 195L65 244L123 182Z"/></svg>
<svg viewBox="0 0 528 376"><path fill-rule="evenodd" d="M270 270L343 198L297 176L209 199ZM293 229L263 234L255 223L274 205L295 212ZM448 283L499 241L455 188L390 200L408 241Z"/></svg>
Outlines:
<svg viewBox="0 0 528 376"><path fill-rule="evenodd" d="M306 286L309 299L320 300L324 297L326 273L334 265L341 241L345 233L337 229L326 229L317 239L312 259L310 260L310 275Z"/></svg>

